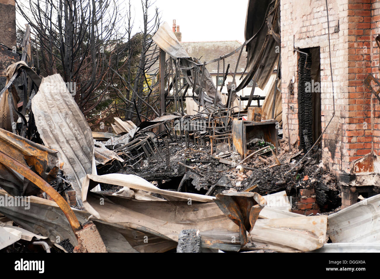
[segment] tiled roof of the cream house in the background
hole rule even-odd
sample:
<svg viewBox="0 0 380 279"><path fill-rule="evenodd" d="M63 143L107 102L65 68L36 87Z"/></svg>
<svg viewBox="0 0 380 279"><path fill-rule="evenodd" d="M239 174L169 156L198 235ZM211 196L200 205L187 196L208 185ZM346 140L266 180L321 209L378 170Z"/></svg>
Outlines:
<svg viewBox="0 0 380 279"><path fill-rule="evenodd" d="M201 62L219 58L221 55L228 54L242 45L239 41L180 42L180 44L186 49L191 57L198 58ZM230 63L229 72L234 73L239 54L240 50L225 59L225 68L227 68L227 65ZM247 52L245 52L244 47L236 73L242 73L245 65L247 65ZM214 62L208 64L206 65L206 68L210 74L216 74L218 63ZM221 74L222 72L223 60L220 60L219 73Z"/></svg>

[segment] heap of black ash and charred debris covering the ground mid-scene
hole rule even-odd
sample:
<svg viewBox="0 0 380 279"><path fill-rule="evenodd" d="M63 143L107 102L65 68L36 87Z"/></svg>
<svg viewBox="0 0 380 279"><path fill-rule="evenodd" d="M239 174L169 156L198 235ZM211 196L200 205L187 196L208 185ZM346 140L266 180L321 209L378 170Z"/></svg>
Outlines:
<svg viewBox="0 0 380 279"><path fill-rule="evenodd" d="M248 154L267 145L268 143L259 140L251 141ZM232 147L231 151L211 155L208 144L206 148L200 150L195 150L191 144L187 148L185 143L171 143L169 146L170 148L166 148L163 144L159 147L163 160L144 160L140 162L138 168L126 168L120 173L138 175L161 189L173 191L178 190L186 174L185 181L180 187L181 192L206 194L210 188L213 188L207 193L212 196L218 193L239 192L249 186L255 186L252 191L260 195L285 190L287 195L296 201L299 189L314 189L317 203L321 205L321 212L333 211L341 205L336 179L320 163L320 150L311 151L296 166L304 156L304 152L299 153L296 148L289 150L288 144L280 140L277 154L280 166L275 165L276 160L272 152L267 152L252 156L242 163L242 167L238 167L241 156L233 152ZM219 159L225 159L231 162L231 165L219 162ZM296 166L294 170L287 173L294 166ZM109 185L108 188L102 186L103 189L117 191L120 187ZM295 202L293 209L294 206Z"/></svg>

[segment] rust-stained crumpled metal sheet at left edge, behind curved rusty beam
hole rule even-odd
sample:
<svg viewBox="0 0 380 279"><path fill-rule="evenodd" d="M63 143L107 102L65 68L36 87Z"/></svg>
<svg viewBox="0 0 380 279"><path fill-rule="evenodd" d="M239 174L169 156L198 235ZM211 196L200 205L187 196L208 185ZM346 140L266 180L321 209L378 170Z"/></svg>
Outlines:
<svg viewBox="0 0 380 279"><path fill-rule="evenodd" d="M58 151L3 129L0 129L0 152L30 168L45 181L54 180L58 167L63 164L58 164ZM0 186L14 196L34 195L41 191L34 183L1 162Z"/></svg>

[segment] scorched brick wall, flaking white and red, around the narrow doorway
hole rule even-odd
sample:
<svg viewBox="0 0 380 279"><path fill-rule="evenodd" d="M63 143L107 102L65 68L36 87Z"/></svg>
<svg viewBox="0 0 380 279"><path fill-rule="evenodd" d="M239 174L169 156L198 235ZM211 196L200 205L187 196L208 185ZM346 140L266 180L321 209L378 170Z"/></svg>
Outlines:
<svg viewBox="0 0 380 279"><path fill-rule="evenodd" d="M380 2L372 2L328 0L335 117L323 135L322 159L336 174L350 173L353 161L372 148L379 153L380 104L363 86L367 75L377 74L379 66L378 48L371 36L380 33ZM298 137L298 53L293 53L293 35L295 47L320 47L323 131L333 112L325 0L311 0L310 5L301 0L281 1L283 126L288 129L288 116L290 134ZM289 98L287 87L292 76L296 81L294 95ZM294 105L294 111L287 113L289 104Z"/></svg>

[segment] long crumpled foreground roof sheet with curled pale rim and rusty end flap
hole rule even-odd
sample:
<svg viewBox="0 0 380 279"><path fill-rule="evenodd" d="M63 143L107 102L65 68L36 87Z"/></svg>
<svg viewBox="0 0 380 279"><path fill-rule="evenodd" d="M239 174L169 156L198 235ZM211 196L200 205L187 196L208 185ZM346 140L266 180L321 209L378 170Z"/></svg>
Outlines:
<svg viewBox="0 0 380 279"><path fill-rule="evenodd" d="M171 201L134 200L121 195L90 193L90 187L98 183L154 192ZM83 204L93 218L119 227L129 238L135 231L155 236L159 250L154 252L173 248L182 230L194 228L202 235L203 247L239 251L246 242L246 230L252 229L264 205L264 199L257 193L209 197L162 190L136 175L119 173L87 175L82 189ZM99 202L101 198L104 199L102 205ZM133 248L140 249L130 243Z"/></svg>

